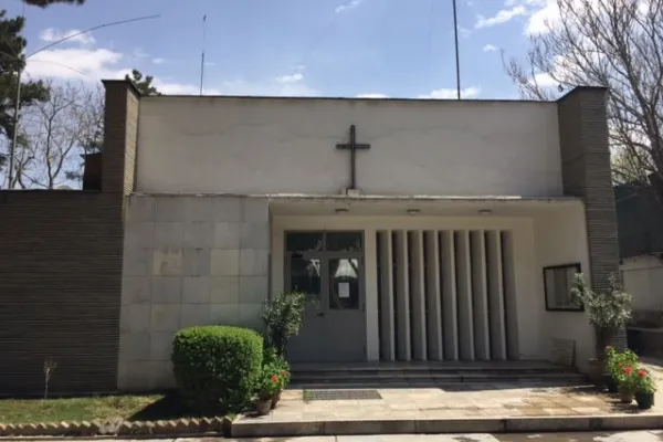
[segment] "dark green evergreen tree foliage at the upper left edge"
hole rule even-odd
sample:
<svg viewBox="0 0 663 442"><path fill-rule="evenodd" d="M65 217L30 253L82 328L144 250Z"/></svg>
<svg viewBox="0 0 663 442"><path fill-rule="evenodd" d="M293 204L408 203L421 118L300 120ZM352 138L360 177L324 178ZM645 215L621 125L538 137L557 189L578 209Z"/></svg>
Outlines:
<svg viewBox="0 0 663 442"><path fill-rule="evenodd" d="M14 135L14 109L17 104L18 73L25 67L23 50L27 41L21 36L25 19L9 19L6 10L0 10L0 138L4 138L0 149L0 168L7 164L9 140ZM23 81L21 83L20 106L43 102L49 98L49 90L43 82ZM24 139L19 134L19 145ZM17 148L19 148L17 146Z"/></svg>

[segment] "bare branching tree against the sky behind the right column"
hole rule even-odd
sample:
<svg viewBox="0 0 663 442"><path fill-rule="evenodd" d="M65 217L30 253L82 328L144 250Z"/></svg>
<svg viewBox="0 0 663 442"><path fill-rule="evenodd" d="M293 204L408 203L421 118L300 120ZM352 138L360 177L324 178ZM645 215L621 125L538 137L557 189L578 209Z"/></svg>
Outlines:
<svg viewBox="0 0 663 442"><path fill-rule="evenodd" d="M506 71L523 96L552 99L573 86L608 88L615 181L663 183L663 0L557 0L558 20ZM663 186L657 193L663 196ZM661 199L663 202L663 198Z"/></svg>

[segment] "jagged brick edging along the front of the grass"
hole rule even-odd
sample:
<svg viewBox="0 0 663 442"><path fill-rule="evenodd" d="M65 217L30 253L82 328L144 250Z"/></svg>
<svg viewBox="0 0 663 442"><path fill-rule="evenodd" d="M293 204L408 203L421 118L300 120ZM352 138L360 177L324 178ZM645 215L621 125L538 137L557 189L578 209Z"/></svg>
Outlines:
<svg viewBox="0 0 663 442"><path fill-rule="evenodd" d="M48 423L0 423L0 436L21 436L21 439L45 439L49 436L182 436L190 434L228 434L228 418L177 419L169 421L83 421Z"/></svg>

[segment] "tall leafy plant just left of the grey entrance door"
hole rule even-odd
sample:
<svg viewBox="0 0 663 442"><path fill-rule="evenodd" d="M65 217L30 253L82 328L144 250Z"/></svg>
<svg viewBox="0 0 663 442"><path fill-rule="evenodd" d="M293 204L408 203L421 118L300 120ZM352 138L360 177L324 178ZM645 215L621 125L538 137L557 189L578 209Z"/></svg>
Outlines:
<svg viewBox="0 0 663 442"><path fill-rule="evenodd" d="M286 292L265 302L263 320L267 326L267 344L285 357L287 340L296 336L304 322L306 295L298 292Z"/></svg>

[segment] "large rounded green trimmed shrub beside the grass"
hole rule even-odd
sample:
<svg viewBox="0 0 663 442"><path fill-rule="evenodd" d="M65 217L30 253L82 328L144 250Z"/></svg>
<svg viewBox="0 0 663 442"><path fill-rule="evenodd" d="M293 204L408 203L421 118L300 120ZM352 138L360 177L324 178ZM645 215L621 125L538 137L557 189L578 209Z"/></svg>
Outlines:
<svg viewBox="0 0 663 442"><path fill-rule="evenodd" d="M239 327L185 328L175 336L171 359L188 406L236 412L251 399L261 375L263 337Z"/></svg>

